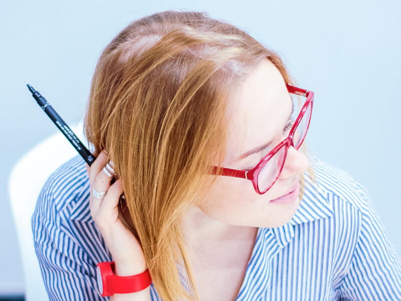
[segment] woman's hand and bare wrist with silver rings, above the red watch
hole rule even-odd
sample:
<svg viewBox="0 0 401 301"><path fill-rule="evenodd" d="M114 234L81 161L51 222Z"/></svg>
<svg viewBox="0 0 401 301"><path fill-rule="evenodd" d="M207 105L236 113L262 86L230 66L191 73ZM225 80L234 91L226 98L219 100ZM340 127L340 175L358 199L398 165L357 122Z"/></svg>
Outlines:
<svg viewBox="0 0 401 301"><path fill-rule="evenodd" d="M91 215L113 256L116 274L139 274L146 269L145 256L139 241L124 225L125 220L123 224L119 217L118 202L123 193L122 180L110 185L112 177L103 171L107 163L107 154L103 150L91 167L86 164L90 181ZM103 200L93 196L93 188L98 192L107 192Z"/></svg>

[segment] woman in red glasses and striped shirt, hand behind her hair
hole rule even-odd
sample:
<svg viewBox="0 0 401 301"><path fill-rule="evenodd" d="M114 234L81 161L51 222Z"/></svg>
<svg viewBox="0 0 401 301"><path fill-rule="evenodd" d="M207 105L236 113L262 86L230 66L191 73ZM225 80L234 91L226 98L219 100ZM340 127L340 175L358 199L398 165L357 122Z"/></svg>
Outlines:
<svg viewBox="0 0 401 301"><path fill-rule="evenodd" d="M114 261L152 279L114 301L401 299L368 193L302 144L312 105L276 52L227 22L129 24L92 80L96 161L61 166L32 217L50 298L107 299L96 266Z"/></svg>

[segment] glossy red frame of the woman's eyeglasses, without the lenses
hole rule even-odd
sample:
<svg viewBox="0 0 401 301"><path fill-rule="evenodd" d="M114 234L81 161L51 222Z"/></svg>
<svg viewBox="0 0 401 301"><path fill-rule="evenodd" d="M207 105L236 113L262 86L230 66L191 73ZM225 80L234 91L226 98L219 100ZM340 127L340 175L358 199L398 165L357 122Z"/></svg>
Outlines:
<svg viewBox="0 0 401 301"><path fill-rule="evenodd" d="M304 136L301 137L301 140L300 140L301 142L299 143L298 148L296 148L297 150L302 145L302 143L303 143L303 141L305 139L306 133L308 132L308 129L309 129L310 119L312 117L313 100L314 100L314 93L312 91L301 89L301 88L294 87L294 86L290 86L288 84L286 84L286 86L287 86L287 90L288 90L289 93L297 94L297 95L300 95L300 96L306 96L305 103L302 106L302 109L299 112L297 119L295 120L294 124L292 125L291 130L288 133L287 138L285 138L279 144L277 144L269 152L269 154L267 154L253 169L248 170L248 171L244 171L244 170L234 170L234 169L230 169L230 168L222 168L221 169L221 173L219 174L219 176L235 177L235 178L241 178L241 179L249 180L249 181L252 182L256 193L258 193L260 195L266 193L274 185L274 183L276 183L278 177L281 174L281 171L283 170L285 160L287 159L288 148L290 146L294 147L294 132L295 132L296 128L298 127L302 117L305 115L305 112L306 112L308 106L310 105L311 106L311 108L310 108L311 112L310 112L310 117L309 117L309 120L308 120L308 125L306 127L306 131L305 131ZM267 161L269 161L270 158L272 158L281 149L281 147L285 147L285 154L284 154L283 164L280 167L280 171L277 174L277 177L272 182L272 184L267 189L265 189L264 191L261 192L259 190L259 186L258 186L259 171L267 163ZM211 171L210 175L216 175L217 169L218 169L217 166L212 167L212 171Z"/></svg>

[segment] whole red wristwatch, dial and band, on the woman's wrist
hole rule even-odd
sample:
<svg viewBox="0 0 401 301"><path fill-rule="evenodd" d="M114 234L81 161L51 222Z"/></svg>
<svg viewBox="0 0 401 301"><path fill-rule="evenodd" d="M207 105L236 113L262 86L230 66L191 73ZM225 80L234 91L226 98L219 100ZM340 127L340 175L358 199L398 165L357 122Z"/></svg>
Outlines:
<svg viewBox="0 0 401 301"><path fill-rule="evenodd" d="M99 262L96 266L97 285L103 297L114 293L130 293L145 289L152 283L149 270L133 276L114 274L114 261Z"/></svg>

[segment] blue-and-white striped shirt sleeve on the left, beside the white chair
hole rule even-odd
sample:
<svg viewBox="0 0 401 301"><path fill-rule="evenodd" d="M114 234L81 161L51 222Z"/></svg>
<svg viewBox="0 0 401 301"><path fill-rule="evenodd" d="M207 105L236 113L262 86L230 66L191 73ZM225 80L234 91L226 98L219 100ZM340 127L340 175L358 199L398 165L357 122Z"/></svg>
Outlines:
<svg viewBox="0 0 401 301"><path fill-rule="evenodd" d="M96 266L65 229L45 184L32 215L35 252L51 301L109 300L97 288Z"/></svg>

